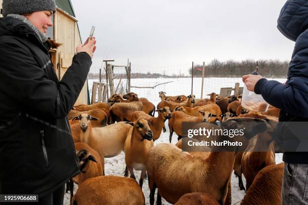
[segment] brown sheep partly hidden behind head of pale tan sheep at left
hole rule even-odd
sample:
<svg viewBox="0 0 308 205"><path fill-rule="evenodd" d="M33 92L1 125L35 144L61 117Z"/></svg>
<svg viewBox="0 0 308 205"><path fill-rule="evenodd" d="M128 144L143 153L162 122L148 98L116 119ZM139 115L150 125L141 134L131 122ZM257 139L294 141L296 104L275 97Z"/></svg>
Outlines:
<svg viewBox="0 0 308 205"><path fill-rule="evenodd" d="M72 120L75 117L80 116L81 114L89 114L98 119L98 121L93 122L93 127L105 127L107 126L108 117L107 114L101 109L93 109L90 111L75 111L71 110L68 114L68 120ZM74 123L72 123L74 124Z"/></svg>

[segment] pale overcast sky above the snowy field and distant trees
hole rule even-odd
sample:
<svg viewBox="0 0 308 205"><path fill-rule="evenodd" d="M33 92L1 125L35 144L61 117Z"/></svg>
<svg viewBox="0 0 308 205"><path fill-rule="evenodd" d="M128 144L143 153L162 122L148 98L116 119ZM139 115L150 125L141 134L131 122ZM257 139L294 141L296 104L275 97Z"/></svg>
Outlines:
<svg viewBox="0 0 308 205"><path fill-rule="evenodd" d="M285 0L71 2L83 41L96 27L93 68L103 58L158 67L214 58L290 60L294 47L277 29Z"/></svg>

